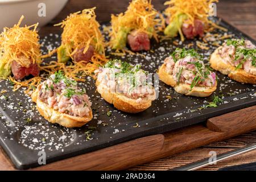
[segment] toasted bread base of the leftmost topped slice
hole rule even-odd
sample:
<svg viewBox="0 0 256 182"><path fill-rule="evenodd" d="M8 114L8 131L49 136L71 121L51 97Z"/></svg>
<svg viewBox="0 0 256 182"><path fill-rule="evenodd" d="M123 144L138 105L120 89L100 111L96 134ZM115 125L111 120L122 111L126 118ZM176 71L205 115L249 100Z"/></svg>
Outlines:
<svg viewBox="0 0 256 182"><path fill-rule="evenodd" d="M38 93L42 85L38 85L38 88L32 93L32 101L36 102L36 108L39 113L51 123L58 123L64 127L81 127L88 123L93 118L92 110L90 109L89 115L86 117L74 117L65 113L60 113L49 107L47 104L39 100Z"/></svg>

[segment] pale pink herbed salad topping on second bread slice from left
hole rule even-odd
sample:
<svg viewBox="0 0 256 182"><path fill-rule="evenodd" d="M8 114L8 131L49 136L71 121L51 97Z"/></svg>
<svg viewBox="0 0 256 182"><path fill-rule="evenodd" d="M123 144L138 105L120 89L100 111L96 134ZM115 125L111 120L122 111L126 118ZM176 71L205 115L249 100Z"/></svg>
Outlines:
<svg viewBox="0 0 256 182"><path fill-rule="evenodd" d="M138 103L147 98L155 100L155 90L147 80L147 72L139 65L131 65L121 60L108 61L95 71L97 81L110 92L120 93L133 98Z"/></svg>

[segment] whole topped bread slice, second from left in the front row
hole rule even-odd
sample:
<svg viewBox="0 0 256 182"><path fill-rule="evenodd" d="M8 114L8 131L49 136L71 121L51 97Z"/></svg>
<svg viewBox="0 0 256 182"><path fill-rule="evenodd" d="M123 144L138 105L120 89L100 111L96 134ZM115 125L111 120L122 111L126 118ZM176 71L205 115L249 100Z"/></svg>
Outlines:
<svg viewBox="0 0 256 182"><path fill-rule="evenodd" d="M112 60L95 71L97 91L105 101L127 113L138 113L155 100L154 87L139 65Z"/></svg>

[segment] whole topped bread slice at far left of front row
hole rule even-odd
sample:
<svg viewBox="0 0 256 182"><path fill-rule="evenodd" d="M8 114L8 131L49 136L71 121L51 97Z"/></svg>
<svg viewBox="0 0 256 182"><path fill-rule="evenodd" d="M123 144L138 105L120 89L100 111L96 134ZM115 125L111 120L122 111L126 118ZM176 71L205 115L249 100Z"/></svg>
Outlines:
<svg viewBox="0 0 256 182"><path fill-rule="evenodd" d="M92 103L85 90L77 87L77 82L56 72L38 85L32 93L36 108L51 123L65 127L81 127L92 118Z"/></svg>

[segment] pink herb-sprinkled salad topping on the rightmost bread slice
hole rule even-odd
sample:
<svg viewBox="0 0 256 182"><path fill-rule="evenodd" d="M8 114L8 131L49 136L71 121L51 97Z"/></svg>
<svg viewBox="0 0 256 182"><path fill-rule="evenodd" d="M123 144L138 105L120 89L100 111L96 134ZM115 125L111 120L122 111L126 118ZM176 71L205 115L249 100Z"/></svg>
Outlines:
<svg viewBox="0 0 256 182"><path fill-rule="evenodd" d="M256 46L250 40L227 40L218 48L218 55L226 64L236 69L244 69L247 73L256 76Z"/></svg>

